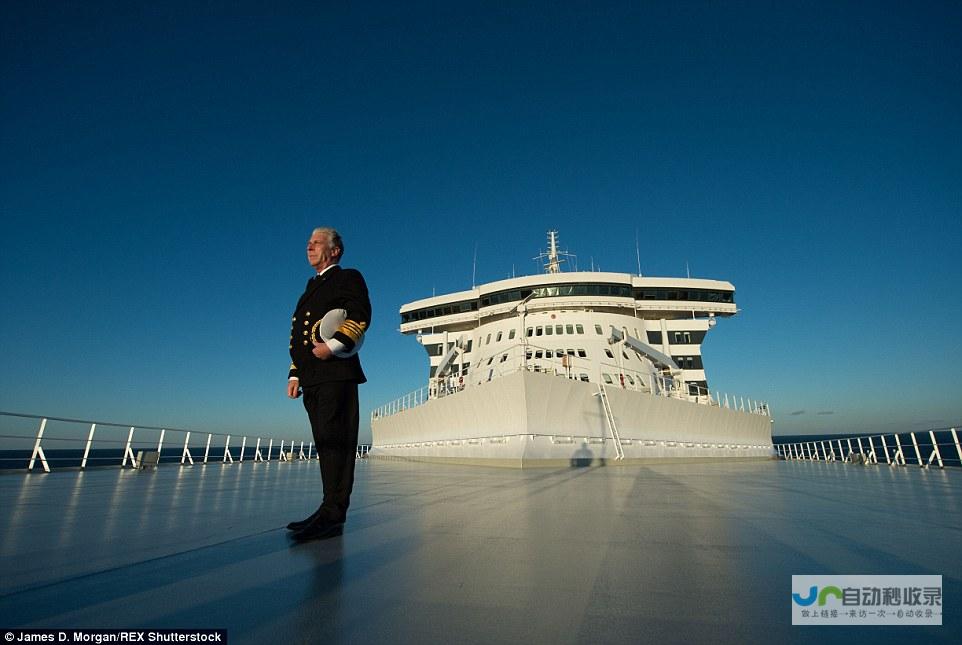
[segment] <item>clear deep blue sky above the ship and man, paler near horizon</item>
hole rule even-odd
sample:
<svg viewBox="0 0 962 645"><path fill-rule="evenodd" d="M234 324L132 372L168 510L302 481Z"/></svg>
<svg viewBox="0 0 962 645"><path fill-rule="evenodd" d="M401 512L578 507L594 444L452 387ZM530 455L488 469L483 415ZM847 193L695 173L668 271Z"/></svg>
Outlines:
<svg viewBox="0 0 962 645"><path fill-rule="evenodd" d="M285 336L332 225L362 428L426 378L398 308L549 228L732 281L709 383L779 433L962 420L962 5L509 4L4 3L0 409L306 436Z"/></svg>

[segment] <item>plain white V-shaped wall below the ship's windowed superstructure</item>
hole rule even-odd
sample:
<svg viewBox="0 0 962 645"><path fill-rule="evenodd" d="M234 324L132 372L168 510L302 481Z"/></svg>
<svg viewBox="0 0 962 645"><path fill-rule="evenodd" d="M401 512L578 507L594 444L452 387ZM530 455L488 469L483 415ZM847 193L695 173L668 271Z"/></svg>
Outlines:
<svg viewBox="0 0 962 645"><path fill-rule="evenodd" d="M551 466L771 458L771 418L518 371L371 422L372 457Z"/></svg>

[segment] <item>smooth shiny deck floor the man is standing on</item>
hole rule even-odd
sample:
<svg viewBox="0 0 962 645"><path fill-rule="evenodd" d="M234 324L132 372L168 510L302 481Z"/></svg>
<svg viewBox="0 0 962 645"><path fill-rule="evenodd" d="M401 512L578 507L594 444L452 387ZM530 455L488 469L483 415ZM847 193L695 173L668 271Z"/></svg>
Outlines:
<svg viewBox="0 0 962 645"><path fill-rule="evenodd" d="M0 476L0 627L231 643L950 642L962 472L363 460L340 538L293 544L316 463ZM793 627L792 574L940 574L942 627ZM856 634L855 630L858 629Z"/></svg>

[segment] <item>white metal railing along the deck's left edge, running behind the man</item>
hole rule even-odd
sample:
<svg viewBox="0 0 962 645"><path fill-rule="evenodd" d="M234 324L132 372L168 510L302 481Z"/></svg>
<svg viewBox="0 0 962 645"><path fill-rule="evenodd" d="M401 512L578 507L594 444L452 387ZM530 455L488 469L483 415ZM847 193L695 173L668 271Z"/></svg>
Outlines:
<svg viewBox="0 0 962 645"><path fill-rule="evenodd" d="M313 441L0 412L0 470L317 459ZM359 445L358 458L370 446Z"/></svg>

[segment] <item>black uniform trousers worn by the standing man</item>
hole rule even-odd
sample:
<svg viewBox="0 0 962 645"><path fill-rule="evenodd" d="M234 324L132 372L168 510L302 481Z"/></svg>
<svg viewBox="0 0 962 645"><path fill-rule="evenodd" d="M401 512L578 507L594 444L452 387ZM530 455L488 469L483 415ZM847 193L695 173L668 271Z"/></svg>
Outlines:
<svg viewBox="0 0 962 645"><path fill-rule="evenodd" d="M320 383L303 391L324 486L318 515L332 522L343 522L354 488L359 420L357 383Z"/></svg>

